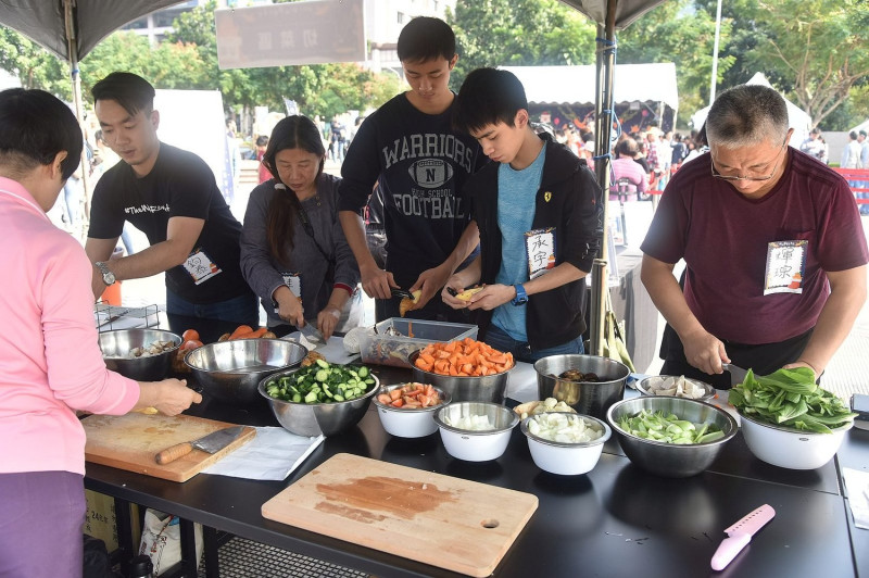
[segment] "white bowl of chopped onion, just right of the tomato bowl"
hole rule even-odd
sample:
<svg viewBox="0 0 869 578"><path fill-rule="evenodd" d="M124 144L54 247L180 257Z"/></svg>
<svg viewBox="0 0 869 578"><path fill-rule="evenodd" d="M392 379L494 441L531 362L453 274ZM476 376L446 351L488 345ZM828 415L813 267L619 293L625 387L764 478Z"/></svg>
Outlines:
<svg viewBox="0 0 869 578"><path fill-rule="evenodd" d="M487 416L494 429L471 430L453 425L463 417L473 416ZM467 462L488 462L498 460L507 449L509 436L519 417L509 407L498 403L461 401L438 410L434 423L441 430L446 453Z"/></svg>

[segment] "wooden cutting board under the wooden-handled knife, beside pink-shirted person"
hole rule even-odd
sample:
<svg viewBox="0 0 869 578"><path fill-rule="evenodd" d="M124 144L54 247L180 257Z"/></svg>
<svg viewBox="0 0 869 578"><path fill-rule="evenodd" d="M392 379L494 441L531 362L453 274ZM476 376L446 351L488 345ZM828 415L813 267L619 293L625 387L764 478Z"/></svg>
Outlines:
<svg viewBox="0 0 869 578"><path fill-rule="evenodd" d="M169 417L162 414L129 413L91 415L83 419L81 425L87 434L85 460L88 462L172 481L189 480L256 436L255 428L247 427L241 436L216 453L193 450L184 457L161 466L154 462L154 455L161 450L199 439L235 424L191 415Z"/></svg>

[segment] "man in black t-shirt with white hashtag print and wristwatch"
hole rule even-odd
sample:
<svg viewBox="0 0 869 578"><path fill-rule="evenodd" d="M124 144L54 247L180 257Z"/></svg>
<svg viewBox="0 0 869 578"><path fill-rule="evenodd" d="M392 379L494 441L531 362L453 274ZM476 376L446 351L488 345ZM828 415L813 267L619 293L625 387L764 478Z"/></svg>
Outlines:
<svg viewBox="0 0 869 578"><path fill-rule="evenodd" d="M85 244L95 263L93 294L118 280L165 272L168 313L256 325L256 298L239 267L241 225L205 162L158 139L154 88L117 72L91 93L103 139L123 161L93 191ZM108 261L125 221L151 247Z"/></svg>

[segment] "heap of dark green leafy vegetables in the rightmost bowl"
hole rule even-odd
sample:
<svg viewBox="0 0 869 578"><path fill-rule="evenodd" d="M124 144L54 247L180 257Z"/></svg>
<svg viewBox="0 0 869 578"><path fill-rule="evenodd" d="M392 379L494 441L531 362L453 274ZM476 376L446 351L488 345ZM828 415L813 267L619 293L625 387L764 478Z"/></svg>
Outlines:
<svg viewBox="0 0 869 578"><path fill-rule="evenodd" d="M815 382L808 367L779 369L770 375L755 375L751 369L745 380L730 390L730 403L743 415L777 426L816 434L854 420L844 402Z"/></svg>

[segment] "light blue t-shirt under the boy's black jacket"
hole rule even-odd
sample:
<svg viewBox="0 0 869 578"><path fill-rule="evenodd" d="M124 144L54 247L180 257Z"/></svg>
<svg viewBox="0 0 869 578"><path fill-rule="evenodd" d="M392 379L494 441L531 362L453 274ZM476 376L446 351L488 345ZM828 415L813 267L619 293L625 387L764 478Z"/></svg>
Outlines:
<svg viewBox="0 0 869 578"><path fill-rule="evenodd" d="M540 150L534 162L516 171L509 164L498 167L498 227L501 229L501 267L495 282L503 285L528 281L528 252L525 234L534 222L534 199L540 189L546 147ZM492 323L513 339L528 341L525 328L526 307L505 303L492 314Z"/></svg>

